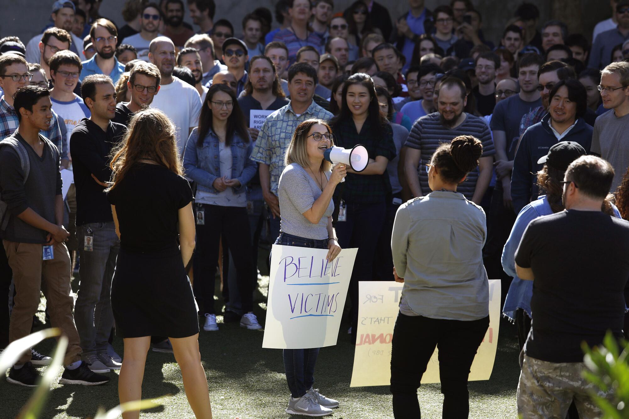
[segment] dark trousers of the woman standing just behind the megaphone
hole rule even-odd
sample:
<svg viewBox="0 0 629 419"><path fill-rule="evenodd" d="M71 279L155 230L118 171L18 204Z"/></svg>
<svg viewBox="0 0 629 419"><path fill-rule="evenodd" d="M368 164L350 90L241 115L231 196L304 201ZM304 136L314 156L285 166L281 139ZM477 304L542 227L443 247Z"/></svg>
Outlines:
<svg viewBox="0 0 629 419"><path fill-rule="evenodd" d="M347 221L337 221L336 230L341 249L358 248L349 288L352 301L352 342L355 342L358 327L358 282L374 279L376 246L386 218L386 203L385 198L382 198L376 204L346 204Z"/></svg>

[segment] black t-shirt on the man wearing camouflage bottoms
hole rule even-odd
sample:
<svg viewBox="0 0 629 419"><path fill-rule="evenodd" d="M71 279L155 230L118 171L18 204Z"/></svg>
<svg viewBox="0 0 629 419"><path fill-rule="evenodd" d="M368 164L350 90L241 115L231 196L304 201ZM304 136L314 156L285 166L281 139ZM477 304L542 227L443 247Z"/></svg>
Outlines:
<svg viewBox="0 0 629 419"><path fill-rule="evenodd" d="M525 354L583 362L581 342L621 337L629 279L629 221L600 211L562 211L533 220L515 262L533 270L532 328Z"/></svg>

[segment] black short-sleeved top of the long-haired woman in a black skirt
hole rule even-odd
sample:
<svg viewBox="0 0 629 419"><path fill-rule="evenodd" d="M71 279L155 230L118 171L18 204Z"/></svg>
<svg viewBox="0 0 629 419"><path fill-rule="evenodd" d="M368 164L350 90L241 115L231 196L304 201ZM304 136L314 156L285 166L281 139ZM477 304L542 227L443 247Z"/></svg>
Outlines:
<svg viewBox="0 0 629 419"><path fill-rule="evenodd" d="M136 163L107 194L116 206L120 247L126 252L179 249L179 208L192 201L188 181L162 165Z"/></svg>

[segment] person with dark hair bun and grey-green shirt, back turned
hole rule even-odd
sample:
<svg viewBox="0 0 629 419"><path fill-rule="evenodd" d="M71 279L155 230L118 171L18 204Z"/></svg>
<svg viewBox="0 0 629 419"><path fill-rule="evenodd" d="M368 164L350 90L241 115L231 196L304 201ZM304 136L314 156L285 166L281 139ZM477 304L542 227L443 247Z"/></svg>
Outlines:
<svg viewBox="0 0 629 419"><path fill-rule="evenodd" d="M417 389L439 349L443 417L467 418L470 366L489 327L482 263L485 213L457 192L476 169L482 143L470 135L444 143L426 164L431 193L399 207L391 250L404 283L393 332L391 393L396 418L419 418Z"/></svg>

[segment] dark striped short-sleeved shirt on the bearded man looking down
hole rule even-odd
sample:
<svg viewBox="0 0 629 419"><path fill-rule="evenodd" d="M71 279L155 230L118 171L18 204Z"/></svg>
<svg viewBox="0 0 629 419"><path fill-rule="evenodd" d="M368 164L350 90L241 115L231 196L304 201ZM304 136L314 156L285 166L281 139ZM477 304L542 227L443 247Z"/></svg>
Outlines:
<svg viewBox="0 0 629 419"><path fill-rule="evenodd" d="M422 116L415 121L413 129L406 140L406 147L415 148L421 151L420 166L418 174L420 177L421 191L424 195L430 193L428 187L428 173L426 173L426 164L430 164L432 155L435 154L437 147L442 143L449 143L453 138L459 135L472 135L482 143L481 157L489 157L496 154L494 150L494 142L491 139L491 131L484 119L478 116L465 113L467 118L465 121L454 129L446 128L439 121L439 113L431 113ZM459 184L457 192L465 195L465 198L472 199L474 190L476 189L476 181L478 179L478 168L472 170L465 181Z"/></svg>

